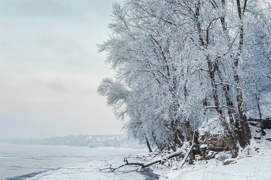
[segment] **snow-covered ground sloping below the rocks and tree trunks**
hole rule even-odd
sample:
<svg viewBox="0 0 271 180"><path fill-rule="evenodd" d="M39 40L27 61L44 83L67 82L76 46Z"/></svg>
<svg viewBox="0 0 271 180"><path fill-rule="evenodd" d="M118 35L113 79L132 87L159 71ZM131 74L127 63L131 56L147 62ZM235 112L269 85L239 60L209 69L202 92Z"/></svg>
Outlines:
<svg viewBox="0 0 271 180"><path fill-rule="evenodd" d="M255 151L254 146L260 149ZM154 168L154 173L161 175L160 180L271 180L271 142L266 140L261 143L254 142L251 147L248 157L236 158L229 165L223 165L222 161L212 159L195 166L185 164L181 170Z"/></svg>

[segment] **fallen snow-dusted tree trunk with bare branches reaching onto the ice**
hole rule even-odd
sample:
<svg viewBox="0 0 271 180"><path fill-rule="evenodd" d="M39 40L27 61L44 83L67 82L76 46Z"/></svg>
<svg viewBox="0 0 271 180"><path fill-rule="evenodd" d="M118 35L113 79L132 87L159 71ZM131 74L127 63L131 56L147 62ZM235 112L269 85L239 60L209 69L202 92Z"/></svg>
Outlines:
<svg viewBox="0 0 271 180"><path fill-rule="evenodd" d="M192 146L193 146L193 145L194 145L194 143L192 144ZM125 169L126 169L126 166L129 166L129 165L136 165L136 166L138 166L138 167L136 168L136 171L140 171L140 170L142 170L142 169L145 168L145 167L149 167L149 166L151 166L151 165L153 165L153 164L156 164L156 163L164 164L164 162L168 162L168 164L169 164L168 167L170 167L171 164L170 164L170 162L169 162L169 159L181 155L181 154L183 153L183 151L187 148L187 146L188 146L188 143L185 142L184 145L183 145L180 149L178 149L177 151L175 151L175 152L173 152L173 153L170 153L170 154L168 154L168 155L166 155L166 156L163 156L163 157L161 157L161 158L157 158L157 159L154 159L154 160L152 160L152 161L148 161L148 162L146 162L146 163L141 163L141 162L128 162L128 158L131 156L131 155L130 155L129 157L124 158L123 164L121 164L121 165L119 165L119 166L117 166L117 167L112 167L112 164L107 164L107 166L110 166L110 167L105 167L105 168L103 168L103 169L100 169L100 171L101 171L101 170L110 169L112 172L114 172L115 170L119 170L120 167L125 167ZM190 151L188 151L187 154L189 154L189 152L190 152Z"/></svg>

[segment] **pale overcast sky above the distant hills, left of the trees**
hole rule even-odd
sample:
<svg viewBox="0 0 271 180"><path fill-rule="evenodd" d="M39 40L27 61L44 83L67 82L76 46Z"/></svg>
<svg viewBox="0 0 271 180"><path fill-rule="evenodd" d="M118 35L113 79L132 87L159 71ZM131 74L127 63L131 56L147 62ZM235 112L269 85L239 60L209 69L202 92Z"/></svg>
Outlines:
<svg viewBox="0 0 271 180"><path fill-rule="evenodd" d="M120 134L96 44L108 37L111 0L0 1L0 138Z"/></svg>

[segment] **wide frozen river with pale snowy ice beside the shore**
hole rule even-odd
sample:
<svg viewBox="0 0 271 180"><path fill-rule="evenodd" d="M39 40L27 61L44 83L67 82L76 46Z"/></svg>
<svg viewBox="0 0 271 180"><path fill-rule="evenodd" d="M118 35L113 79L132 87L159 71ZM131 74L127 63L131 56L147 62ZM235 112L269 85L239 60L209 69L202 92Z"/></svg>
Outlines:
<svg viewBox="0 0 271 180"><path fill-rule="evenodd" d="M70 146L15 145L0 143L0 179L156 179L150 169L136 173L135 167L119 172L102 171L106 161L119 165L124 157L146 150Z"/></svg>

